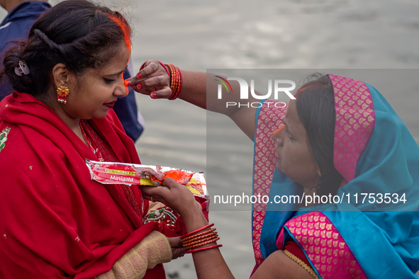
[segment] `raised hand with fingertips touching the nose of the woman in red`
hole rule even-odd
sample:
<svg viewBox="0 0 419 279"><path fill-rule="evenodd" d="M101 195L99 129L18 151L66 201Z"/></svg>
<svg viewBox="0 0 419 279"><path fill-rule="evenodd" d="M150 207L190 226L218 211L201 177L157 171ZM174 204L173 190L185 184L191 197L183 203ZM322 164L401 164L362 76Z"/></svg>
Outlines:
<svg viewBox="0 0 419 279"><path fill-rule="evenodd" d="M151 98L169 98L170 77L166 69L157 60L148 60L138 74L125 80L127 86Z"/></svg>

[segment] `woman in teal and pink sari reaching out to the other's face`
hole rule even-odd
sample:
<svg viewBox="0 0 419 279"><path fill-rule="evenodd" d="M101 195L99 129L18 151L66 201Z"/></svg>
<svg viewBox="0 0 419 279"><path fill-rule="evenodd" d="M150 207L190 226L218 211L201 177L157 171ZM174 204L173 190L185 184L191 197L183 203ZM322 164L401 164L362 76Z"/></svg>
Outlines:
<svg viewBox="0 0 419 279"><path fill-rule="evenodd" d="M147 78L131 84L162 86L152 97L169 96L164 80L150 77L157 63L150 65L140 71ZM303 85L285 108L267 100L228 110L206 103L206 87L216 84L205 73L181 74L179 98L230 116L254 139L254 195L303 201L253 205L252 278L417 278L419 147L379 91L329 74ZM225 96L224 105L238 97ZM189 232L205 226L189 193L166 184L143 193L178 210ZM177 193L181 202L169 200ZM315 195L332 200L306 206ZM194 263L199 278L233 278L218 249L194 253Z"/></svg>

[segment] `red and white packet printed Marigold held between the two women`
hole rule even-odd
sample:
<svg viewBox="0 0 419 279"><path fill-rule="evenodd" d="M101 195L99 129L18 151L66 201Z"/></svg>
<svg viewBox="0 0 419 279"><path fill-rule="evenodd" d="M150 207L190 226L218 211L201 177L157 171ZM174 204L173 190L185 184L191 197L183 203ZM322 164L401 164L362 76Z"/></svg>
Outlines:
<svg viewBox="0 0 419 279"><path fill-rule="evenodd" d="M161 186L165 178L173 178L201 198L209 198L203 173L174 169L169 166L91 161L86 159L91 180L102 184Z"/></svg>

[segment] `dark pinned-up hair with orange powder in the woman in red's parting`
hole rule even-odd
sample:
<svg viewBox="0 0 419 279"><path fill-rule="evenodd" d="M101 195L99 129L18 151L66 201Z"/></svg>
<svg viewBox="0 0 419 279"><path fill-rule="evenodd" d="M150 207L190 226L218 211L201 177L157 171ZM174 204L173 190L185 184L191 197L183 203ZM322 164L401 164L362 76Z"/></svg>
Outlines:
<svg viewBox="0 0 419 279"><path fill-rule="evenodd" d="M52 87L52 69L63 63L77 76L88 68L104 67L121 42L129 44L131 29L118 11L86 0L69 0L43 13L28 40L13 42L4 53L1 79L18 92L43 96ZM15 67L26 62L30 74L18 76Z"/></svg>

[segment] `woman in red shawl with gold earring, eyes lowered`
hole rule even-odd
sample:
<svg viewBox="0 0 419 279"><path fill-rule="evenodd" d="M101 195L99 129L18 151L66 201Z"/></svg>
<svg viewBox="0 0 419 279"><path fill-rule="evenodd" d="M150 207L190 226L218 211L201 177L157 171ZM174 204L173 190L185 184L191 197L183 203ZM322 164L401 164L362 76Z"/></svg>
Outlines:
<svg viewBox="0 0 419 279"><path fill-rule="evenodd" d="M145 224L138 187L91 181L85 164L140 164L112 110L129 57L125 18L82 0L4 54L16 91L0 103L0 278L165 278L179 256L161 233L179 222Z"/></svg>

